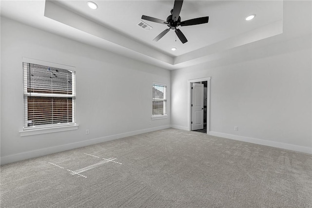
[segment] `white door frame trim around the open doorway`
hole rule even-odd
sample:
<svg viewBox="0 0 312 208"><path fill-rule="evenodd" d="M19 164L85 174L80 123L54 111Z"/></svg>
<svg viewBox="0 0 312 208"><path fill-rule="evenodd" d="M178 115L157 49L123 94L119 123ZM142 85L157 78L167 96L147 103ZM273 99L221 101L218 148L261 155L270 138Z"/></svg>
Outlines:
<svg viewBox="0 0 312 208"><path fill-rule="evenodd" d="M189 79L187 81L187 100L188 100L188 108L187 108L187 121L189 123L189 131L192 131L192 83L193 82L202 82L207 81L207 134L210 132L210 79L211 77L197 78L197 79Z"/></svg>

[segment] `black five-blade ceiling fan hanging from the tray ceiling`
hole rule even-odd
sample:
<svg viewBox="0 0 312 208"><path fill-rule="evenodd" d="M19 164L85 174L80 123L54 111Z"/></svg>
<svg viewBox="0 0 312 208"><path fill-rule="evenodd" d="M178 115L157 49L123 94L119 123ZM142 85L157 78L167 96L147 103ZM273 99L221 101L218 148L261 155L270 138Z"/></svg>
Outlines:
<svg viewBox="0 0 312 208"><path fill-rule="evenodd" d="M168 16L167 21L142 15L142 19L157 22L160 24L167 24L167 26L169 27L168 29L162 31L156 38L154 38L154 41L158 41L160 38L166 35L170 29L172 29L175 30L176 36L181 40L181 42L186 43L187 39L185 38L184 34L181 32L180 29L176 29L178 26L196 25L208 22L209 17L181 21L181 17L179 15L181 12L182 4L183 0L175 0L174 8L171 10L171 15Z"/></svg>

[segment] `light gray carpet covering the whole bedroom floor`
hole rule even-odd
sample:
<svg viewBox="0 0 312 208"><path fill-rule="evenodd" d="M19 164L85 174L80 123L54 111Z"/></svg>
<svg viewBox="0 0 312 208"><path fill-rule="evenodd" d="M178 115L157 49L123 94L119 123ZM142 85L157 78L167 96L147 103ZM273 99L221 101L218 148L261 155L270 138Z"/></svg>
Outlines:
<svg viewBox="0 0 312 208"><path fill-rule="evenodd" d="M166 129L1 166L1 208L311 208L312 155Z"/></svg>

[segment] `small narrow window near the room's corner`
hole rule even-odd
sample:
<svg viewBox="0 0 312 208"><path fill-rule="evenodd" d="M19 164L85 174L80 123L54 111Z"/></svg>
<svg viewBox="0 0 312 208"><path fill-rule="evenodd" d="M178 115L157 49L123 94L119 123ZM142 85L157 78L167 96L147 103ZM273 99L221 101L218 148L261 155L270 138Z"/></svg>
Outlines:
<svg viewBox="0 0 312 208"><path fill-rule="evenodd" d="M152 118L167 117L167 86L153 83L153 113Z"/></svg>

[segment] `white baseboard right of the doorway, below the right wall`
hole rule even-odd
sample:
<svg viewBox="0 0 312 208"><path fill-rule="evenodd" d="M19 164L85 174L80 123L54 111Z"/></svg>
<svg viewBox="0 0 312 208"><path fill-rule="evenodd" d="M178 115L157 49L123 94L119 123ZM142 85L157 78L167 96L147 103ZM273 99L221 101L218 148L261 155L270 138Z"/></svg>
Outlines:
<svg viewBox="0 0 312 208"><path fill-rule="evenodd" d="M265 145L265 146L270 146L270 147L276 147L276 148L281 148L281 149L286 149L286 150L300 151L300 152L312 154L311 147L303 147L303 146L286 144L286 143L281 143L281 142L273 142L273 141L268 141L268 140L263 140L263 139L255 139L251 137L237 136L237 135L228 134L228 133L209 132L209 134L213 136L219 136L219 137L234 139L234 140L243 141L243 142L250 142L250 143L259 144L259 145Z"/></svg>

